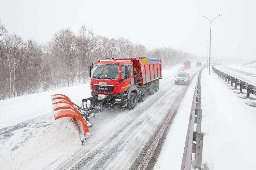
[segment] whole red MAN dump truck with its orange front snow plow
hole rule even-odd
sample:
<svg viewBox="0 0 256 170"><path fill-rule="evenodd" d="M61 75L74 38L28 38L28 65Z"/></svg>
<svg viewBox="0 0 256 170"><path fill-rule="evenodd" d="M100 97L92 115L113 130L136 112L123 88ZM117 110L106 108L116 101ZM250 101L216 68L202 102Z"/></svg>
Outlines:
<svg viewBox="0 0 256 170"><path fill-rule="evenodd" d="M75 118L83 132L82 144L96 113L115 107L135 108L147 94L158 91L162 78L161 61L156 58L98 59L88 69L92 91L91 97L82 99L82 106L65 95L52 95L54 118Z"/></svg>

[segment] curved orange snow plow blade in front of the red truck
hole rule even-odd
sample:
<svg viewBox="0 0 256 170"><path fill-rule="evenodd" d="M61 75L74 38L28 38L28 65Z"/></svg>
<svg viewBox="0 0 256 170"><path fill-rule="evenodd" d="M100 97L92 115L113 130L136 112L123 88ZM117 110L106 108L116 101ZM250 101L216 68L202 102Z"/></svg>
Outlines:
<svg viewBox="0 0 256 170"><path fill-rule="evenodd" d="M80 112L77 111L69 97L63 94L54 94L52 95L52 103L55 120L63 117L75 118L82 129L84 136L89 135L89 129L86 121L82 118Z"/></svg>

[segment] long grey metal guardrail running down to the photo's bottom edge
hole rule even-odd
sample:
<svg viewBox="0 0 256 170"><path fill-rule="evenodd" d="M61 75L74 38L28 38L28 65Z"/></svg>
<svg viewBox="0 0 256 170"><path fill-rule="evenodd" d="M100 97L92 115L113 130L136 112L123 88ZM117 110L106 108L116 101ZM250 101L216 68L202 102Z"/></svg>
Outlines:
<svg viewBox="0 0 256 170"><path fill-rule="evenodd" d="M187 137L183 152L181 170L191 169L192 153L195 153L195 166L201 170L203 152L203 134L201 133L202 109L201 109L201 73L205 66L200 70L197 77L197 84L194 92L193 103L191 106ZM194 132L196 124L196 132Z"/></svg>

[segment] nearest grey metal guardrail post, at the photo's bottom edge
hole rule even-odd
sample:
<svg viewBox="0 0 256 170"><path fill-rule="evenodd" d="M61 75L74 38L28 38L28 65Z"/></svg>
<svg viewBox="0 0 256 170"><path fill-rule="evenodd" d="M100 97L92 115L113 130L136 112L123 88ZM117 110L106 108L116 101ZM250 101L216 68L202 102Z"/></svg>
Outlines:
<svg viewBox="0 0 256 170"><path fill-rule="evenodd" d="M197 132L196 138L196 155L195 155L195 169L201 170L203 153L203 134Z"/></svg>

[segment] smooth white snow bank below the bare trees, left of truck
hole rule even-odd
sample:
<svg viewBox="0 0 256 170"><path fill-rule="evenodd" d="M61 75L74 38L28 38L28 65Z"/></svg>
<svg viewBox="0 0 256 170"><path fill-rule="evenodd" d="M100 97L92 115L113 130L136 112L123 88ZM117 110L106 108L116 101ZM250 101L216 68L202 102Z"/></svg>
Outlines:
<svg viewBox="0 0 256 170"><path fill-rule="evenodd" d="M67 95L74 103L90 96L90 85L67 87L42 93L23 95L0 101L0 129L43 114L53 115L53 94Z"/></svg>

